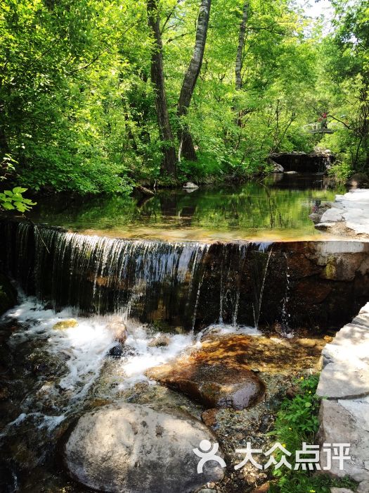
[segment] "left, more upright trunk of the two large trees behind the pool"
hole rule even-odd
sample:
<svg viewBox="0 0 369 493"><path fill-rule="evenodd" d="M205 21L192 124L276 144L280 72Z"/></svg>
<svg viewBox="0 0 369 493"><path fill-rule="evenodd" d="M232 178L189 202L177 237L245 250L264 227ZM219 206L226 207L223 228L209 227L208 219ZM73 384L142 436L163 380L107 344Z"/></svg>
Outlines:
<svg viewBox="0 0 369 493"><path fill-rule="evenodd" d="M154 46L151 51L151 82L155 92L155 106L160 137L163 141L162 171L176 177L176 149L169 121L167 96L165 94L162 36L160 34L160 18L157 12L157 0L148 0L148 25L153 32Z"/></svg>

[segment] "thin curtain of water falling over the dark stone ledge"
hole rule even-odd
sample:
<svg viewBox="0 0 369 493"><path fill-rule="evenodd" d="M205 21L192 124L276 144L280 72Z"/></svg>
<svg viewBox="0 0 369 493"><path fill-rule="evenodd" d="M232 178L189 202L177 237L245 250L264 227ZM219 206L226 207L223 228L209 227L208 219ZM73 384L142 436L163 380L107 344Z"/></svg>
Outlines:
<svg viewBox="0 0 369 493"><path fill-rule="evenodd" d="M16 221L0 232L8 272L54 311L117 313L160 330L259 323L271 244L112 239Z"/></svg>

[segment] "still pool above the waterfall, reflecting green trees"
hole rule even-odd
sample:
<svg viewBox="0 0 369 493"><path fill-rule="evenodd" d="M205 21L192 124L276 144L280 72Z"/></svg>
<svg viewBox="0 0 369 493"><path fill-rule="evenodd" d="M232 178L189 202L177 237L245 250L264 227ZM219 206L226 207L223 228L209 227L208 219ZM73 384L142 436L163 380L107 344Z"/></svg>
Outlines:
<svg viewBox="0 0 369 493"><path fill-rule="evenodd" d="M343 189L323 175L286 173L243 185L161 190L142 196L44 199L32 220L110 237L178 240L310 239L309 213Z"/></svg>

